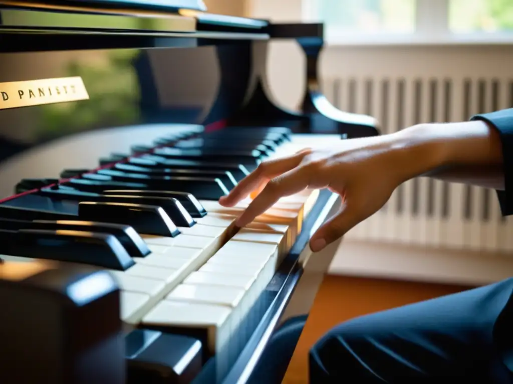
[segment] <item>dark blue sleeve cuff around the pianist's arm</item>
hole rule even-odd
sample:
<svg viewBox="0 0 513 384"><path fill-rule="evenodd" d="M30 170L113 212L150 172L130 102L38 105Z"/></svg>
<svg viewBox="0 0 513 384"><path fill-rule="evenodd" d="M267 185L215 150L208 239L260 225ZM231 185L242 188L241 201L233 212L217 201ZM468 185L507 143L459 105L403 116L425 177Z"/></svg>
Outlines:
<svg viewBox="0 0 513 384"><path fill-rule="evenodd" d="M471 120L484 120L499 131L504 159L504 190L498 190L497 196L502 215L513 215L513 108L476 115Z"/></svg>

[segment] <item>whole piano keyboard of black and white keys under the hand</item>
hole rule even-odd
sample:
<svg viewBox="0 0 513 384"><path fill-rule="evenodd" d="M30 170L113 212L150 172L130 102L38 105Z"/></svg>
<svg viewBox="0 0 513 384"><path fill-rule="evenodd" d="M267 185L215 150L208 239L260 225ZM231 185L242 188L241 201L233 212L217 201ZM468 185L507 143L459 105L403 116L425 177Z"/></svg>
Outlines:
<svg viewBox="0 0 513 384"><path fill-rule="evenodd" d="M0 205L0 234L16 239L0 245L6 254L0 259L100 267L119 283L127 332L144 328L198 338L204 361L238 353L241 345L231 335L241 331L319 192L284 197L244 228L234 223L250 200L230 208L217 200L261 161L341 137L226 131L135 146L131 155L102 159L101 169L65 170L63 176L73 178L53 186L21 181L20 191L40 189ZM67 253L42 237L68 242Z"/></svg>

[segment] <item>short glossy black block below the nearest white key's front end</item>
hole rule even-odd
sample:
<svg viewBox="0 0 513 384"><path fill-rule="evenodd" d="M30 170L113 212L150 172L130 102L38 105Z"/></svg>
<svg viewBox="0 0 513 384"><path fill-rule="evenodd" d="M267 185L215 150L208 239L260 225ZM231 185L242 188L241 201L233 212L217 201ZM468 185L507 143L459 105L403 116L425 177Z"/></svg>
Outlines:
<svg viewBox="0 0 513 384"><path fill-rule="evenodd" d="M202 343L182 336L136 329L125 336L127 384L188 384L202 369Z"/></svg>

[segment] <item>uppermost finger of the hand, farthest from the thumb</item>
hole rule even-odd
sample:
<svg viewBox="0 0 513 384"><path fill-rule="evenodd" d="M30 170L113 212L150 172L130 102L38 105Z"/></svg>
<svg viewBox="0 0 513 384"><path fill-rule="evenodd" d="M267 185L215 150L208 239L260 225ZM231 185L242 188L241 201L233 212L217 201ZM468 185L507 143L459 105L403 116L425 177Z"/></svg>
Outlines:
<svg viewBox="0 0 513 384"><path fill-rule="evenodd" d="M289 157L261 163L257 169L242 179L228 195L221 197L219 203L227 207L239 203L253 190L266 184L269 180L297 167L306 154L307 151L301 151Z"/></svg>

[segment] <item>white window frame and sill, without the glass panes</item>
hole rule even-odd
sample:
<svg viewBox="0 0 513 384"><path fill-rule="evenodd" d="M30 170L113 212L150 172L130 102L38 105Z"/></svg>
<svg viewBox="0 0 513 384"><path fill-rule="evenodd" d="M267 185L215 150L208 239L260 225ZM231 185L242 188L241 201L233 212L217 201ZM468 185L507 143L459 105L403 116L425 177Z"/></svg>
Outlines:
<svg viewBox="0 0 513 384"><path fill-rule="evenodd" d="M318 4L322 0L301 0L304 22L317 22ZM412 33L340 33L325 26L328 45L510 45L511 32L453 33L449 29L450 0L413 0L417 3Z"/></svg>

